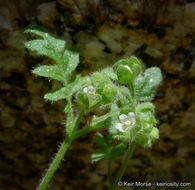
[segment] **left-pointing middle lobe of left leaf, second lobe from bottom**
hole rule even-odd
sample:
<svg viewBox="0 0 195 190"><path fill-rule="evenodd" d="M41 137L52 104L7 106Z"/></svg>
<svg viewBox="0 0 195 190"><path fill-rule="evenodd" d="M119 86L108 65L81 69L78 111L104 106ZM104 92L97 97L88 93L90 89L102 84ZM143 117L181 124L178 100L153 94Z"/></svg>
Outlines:
<svg viewBox="0 0 195 190"><path fill-rule="evenodd" d="M33 71L33 74L42 76L42 77L48 77L51 79L55 79L61 82L65 81L65 78L63 76L62 71L58 68L57 65L42 65L42 66L38 66L36 67Z"/></svg>

